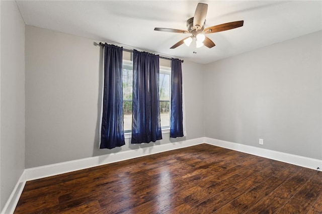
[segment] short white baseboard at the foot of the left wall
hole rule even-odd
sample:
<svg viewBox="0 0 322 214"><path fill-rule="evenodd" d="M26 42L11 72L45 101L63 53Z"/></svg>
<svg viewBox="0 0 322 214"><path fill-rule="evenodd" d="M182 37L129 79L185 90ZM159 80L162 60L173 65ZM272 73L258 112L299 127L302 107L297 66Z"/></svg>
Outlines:
<svg viewBox="0 0 322 214"><path fill-rule="evenodd" d="M15 188L13 189L11 195L9 196L3 210L1 211L1 214L8 214L8 213L14 213L15 208L17 206L17 203L19 201L20 195L22 191L24 190L25 184L26 184L26 178L25 178L25 170L21 174Z"/></svg>

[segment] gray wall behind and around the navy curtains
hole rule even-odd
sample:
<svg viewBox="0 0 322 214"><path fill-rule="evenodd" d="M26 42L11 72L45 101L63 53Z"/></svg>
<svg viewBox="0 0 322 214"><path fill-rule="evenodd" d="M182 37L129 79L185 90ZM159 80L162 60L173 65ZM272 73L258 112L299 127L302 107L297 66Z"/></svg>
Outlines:
<svg viewBox="0 0 322 214"><path fill-rule="evenodd" d="M185 61L187 136L98 149L101 60L93 40L26 26L26 168L204 136L203 72Z"/></svg>

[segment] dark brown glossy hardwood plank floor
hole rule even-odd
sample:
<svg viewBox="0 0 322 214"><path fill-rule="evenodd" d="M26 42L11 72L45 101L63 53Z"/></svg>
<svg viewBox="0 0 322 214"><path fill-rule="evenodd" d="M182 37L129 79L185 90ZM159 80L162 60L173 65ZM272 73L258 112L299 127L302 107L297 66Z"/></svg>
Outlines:
<svg viewBox="0 0 322 214"><path fill-rule="evenodd" d="M201 144L28 181L15 213L322 213L322 172Z"/></svg>

